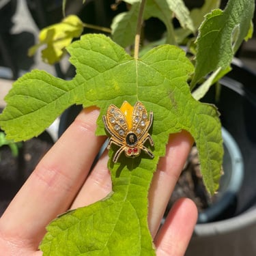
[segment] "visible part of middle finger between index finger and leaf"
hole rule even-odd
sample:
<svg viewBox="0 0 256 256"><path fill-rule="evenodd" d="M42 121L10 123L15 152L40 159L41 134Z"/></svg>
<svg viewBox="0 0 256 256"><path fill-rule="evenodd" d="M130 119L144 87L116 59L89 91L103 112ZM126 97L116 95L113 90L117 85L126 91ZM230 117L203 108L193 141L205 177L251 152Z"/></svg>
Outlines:
<svg viewBox="0 0 256 256"><path fill-rule="evenodd" d="M112 182L107 167L108 160L109 156L107 152L104 152L76 196L71 209L95 203L111 193Z"/></svg>

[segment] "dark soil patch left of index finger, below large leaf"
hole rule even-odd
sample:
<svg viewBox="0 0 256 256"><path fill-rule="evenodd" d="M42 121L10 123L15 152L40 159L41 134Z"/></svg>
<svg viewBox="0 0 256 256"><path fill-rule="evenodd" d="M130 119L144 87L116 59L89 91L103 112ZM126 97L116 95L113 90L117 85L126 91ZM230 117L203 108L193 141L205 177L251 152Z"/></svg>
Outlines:
<svg viewBox="0 0 256 256"><path fill-rule="evenodd" d="M0 148L0 216L52 145L44 133L22 143L17 157L12 156L10 147Z"/></svg>

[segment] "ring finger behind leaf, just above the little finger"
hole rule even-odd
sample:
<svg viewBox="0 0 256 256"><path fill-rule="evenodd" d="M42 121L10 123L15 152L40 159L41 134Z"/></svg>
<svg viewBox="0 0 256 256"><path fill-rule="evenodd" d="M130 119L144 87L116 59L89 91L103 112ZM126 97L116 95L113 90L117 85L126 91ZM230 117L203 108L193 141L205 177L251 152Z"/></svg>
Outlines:
<svg viewBox="0 0 256 256"><path fill-rule="evenodd" d="M177 179L190 152L193 139L186 131L171 134L164 158L160 158L149 193L149 226L154 238Z"/></svg>

